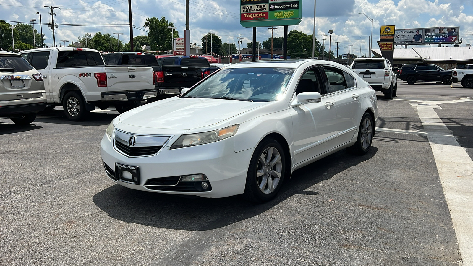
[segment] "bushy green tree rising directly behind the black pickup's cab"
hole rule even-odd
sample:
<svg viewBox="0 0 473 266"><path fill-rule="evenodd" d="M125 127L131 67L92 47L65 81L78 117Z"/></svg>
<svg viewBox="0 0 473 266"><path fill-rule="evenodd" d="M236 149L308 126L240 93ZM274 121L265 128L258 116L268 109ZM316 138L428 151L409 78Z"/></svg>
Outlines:
<svg viewBox="0 0 473 266"><path fill-rule="evenodd" d="M174 23L167 21L165 17L161 17L161 19L156 17L146 19L144 27L149 28L149 46L151 46L152 51L172 50L172 36L171 30L167 28L168 26L174 27ZM175 29L173 31L174 38L178 38L179 32Z"/></svg>

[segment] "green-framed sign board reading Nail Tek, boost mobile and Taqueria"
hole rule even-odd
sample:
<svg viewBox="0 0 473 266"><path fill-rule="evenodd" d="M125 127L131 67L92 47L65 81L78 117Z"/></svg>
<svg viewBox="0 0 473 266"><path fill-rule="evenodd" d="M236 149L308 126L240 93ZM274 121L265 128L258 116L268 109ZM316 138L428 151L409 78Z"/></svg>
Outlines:
<svg viewBox="0 0 473 266"><path fill-rule="evenodd" d="M298 25L302 0L240 0L240 16L247 28Z"/></svg>

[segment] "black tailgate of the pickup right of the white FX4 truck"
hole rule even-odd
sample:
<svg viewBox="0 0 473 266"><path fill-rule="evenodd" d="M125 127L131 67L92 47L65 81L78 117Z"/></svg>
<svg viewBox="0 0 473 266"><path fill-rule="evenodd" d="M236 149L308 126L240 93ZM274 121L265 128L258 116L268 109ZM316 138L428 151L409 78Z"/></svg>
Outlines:
<svg viewBox="0 0 473 266"><path fill-rule="evenodd" d="M198 66L163 66L162 88L191 88L202 79Z"/></svg>

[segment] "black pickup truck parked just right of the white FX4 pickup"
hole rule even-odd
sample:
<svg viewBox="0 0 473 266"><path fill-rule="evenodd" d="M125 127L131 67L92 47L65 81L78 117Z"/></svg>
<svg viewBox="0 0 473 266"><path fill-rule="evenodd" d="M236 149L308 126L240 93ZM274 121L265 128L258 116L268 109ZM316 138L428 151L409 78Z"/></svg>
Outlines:
<svg viewBox="0 0 473 266"><path fill-rule="evenodd" d="M200 66L159 64L155 55L152 53L107 53L103 54L102 57L106 65L152 67L154 72L154 88L158 90L158 97L150 98L148 102L179 95L181 89L191 88L202 80L202 70Z"/></svg>

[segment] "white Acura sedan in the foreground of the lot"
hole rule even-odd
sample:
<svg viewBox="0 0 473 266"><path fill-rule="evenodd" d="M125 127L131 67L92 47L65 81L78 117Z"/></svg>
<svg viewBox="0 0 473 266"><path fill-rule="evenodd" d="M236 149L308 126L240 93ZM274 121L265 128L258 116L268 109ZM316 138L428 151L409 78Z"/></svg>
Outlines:
<svg viewBox="0 0 473 266"><path fill-rule="evenodd" d="M340 64L243 62L117 116L101 156L132 189L265 202L298 168L344 148L368 152L376 121L375 91Z"/></svg>

